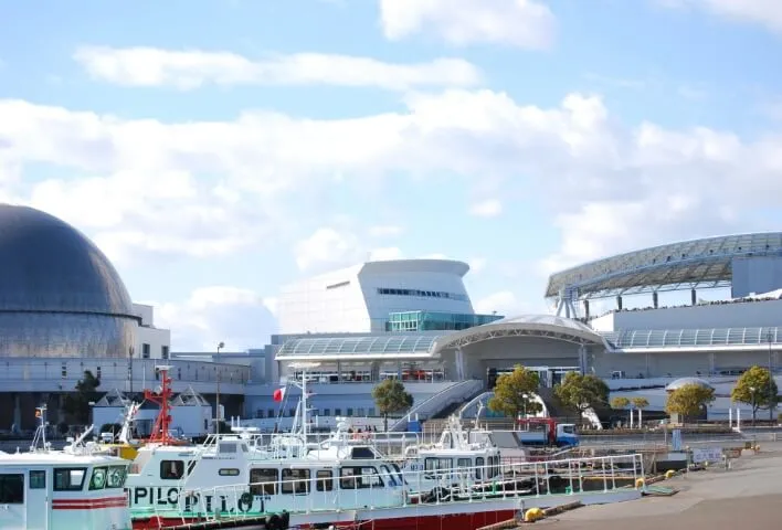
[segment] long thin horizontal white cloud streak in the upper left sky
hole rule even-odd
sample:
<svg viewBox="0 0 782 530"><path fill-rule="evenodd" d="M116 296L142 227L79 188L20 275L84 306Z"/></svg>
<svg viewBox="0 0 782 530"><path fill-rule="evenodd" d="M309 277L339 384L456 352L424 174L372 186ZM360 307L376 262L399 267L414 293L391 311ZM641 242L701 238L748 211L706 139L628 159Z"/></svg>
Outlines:
<svg viewBox="0 0 782 530"><path fill-rule="evenodd" d="M482 74L461 59L392 64L368 57L296 53L253 61L230 52L155 47L80 47L74 59L94 78L128 86L338 85L406 91L418 86L473 86Z"/></svg>

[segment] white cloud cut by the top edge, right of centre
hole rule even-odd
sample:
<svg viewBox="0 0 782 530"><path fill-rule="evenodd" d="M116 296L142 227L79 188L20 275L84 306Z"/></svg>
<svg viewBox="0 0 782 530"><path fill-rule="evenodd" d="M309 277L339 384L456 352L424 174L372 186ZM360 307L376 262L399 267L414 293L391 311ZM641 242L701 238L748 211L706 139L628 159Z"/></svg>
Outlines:
<svg viewBox="0 0 782 530"><path fill-rule="evenodd" d="M456 45L505 43L547 49L556 19L537 0L380 0L383 33L400 40L431 32Z"/></svg>

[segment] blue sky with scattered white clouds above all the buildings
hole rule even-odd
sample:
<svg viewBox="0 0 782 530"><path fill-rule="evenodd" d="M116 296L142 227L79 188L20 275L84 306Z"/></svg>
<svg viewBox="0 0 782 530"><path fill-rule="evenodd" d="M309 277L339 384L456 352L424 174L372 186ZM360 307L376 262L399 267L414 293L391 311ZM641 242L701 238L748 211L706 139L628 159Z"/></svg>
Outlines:
<svg viewBox="0 0 782 530"><path fill-rule="evenodd" d="M88 235L175 351L261 347L282 285L367 258L463 259L475 309L512 316L548 310L552 272L782 222L779 0L0 20L0 200Z"/></svg>

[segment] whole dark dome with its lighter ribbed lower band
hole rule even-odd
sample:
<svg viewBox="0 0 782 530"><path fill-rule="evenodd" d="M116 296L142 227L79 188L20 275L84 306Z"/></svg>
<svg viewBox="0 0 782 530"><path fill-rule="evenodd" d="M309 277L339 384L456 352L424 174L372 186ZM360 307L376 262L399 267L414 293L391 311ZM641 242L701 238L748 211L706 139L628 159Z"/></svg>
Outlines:
<svg viewBox="0 0 782 530"><path fill-rule="evenodd" d="M140 318L108 258L47 213L0 204L0 357L126 358Z"/></svg>

